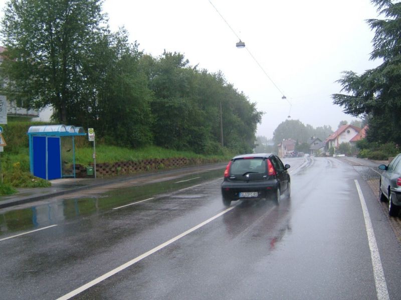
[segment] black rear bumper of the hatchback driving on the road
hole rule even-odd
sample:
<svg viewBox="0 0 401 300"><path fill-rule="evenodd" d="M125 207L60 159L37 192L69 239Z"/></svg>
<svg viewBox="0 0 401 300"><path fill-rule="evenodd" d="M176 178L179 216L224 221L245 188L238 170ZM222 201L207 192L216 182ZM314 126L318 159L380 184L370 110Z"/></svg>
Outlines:
<svg viewBox="0 0 401 300"><path fill-rule="evenodd" d="M238 200L238 199L262 199L267 198L276 192L278 186L277 180L258 180L249 182L233 182L223 181L222 183L222 195L226 199ZM257 196L246 196L241 197L242 192L257 192Z"/></svg>

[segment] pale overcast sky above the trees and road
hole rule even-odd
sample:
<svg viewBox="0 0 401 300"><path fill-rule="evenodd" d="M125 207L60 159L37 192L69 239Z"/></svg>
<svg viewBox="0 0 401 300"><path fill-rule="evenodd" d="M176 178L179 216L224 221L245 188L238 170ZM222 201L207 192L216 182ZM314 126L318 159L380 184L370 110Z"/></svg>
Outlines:
<svg viewBox="0 0 401 300"><path fill-rule="evenodd" d="M191 65L221 70L266 112L258 135L272 137L289 114L333 129L352 119L330 95L340 91L334 81L342 71L379 64L369 60L373 32L365 20L378 16L369 0L211 1L292 106L247 49L236 48L238 37L209 0L105 0L103 8L110 28L125 26L144 52L177 51Z"/></svg>

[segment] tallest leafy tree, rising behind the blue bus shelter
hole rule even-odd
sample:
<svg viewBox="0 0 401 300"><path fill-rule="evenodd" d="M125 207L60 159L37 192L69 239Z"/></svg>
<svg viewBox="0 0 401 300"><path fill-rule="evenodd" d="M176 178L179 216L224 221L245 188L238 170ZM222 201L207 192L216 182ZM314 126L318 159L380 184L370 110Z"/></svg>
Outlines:
<svg viewBox="0 0 401 300"><path fill-rule="evenodd" d="M9 0L1 33L9 96L25 106L52 104L56 118L69 113L87 91L88 58L108 32L101 0Z"/></svg>

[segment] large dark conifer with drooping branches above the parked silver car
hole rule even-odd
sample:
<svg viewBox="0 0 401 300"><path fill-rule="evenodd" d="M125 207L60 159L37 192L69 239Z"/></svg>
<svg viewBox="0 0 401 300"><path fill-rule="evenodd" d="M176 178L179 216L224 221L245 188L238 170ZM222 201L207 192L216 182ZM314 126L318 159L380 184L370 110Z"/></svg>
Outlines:
<svg viewBox="0 0 401 300"><path fill-rule="evenodd" d="M376 68L358 75L344 71L345 94L333 94L333 103L353 116L368 116L367 138L401 144L401 2L371 0L384 19L369 19L375 30L371 59L382 59Z"/></svg>

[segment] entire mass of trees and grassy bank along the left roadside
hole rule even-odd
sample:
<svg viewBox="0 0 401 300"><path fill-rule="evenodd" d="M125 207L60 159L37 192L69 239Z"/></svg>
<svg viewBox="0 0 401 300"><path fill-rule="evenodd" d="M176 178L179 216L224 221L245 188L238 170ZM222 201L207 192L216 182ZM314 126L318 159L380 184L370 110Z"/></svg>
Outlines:
<svg viewBox="0 0 401 300"><path fill-rule="evenodd" d="M179 52L146 54L107 22L99 0L8 0L2 95L19 107L52 105L56 124L94 128L99 163L252 151L263 112L223 72L192 66ZM4 126L4 186L49 184L29 174L26 133L35 124ZM89 142L76 150L76 163L92 162Z"/></svg>

